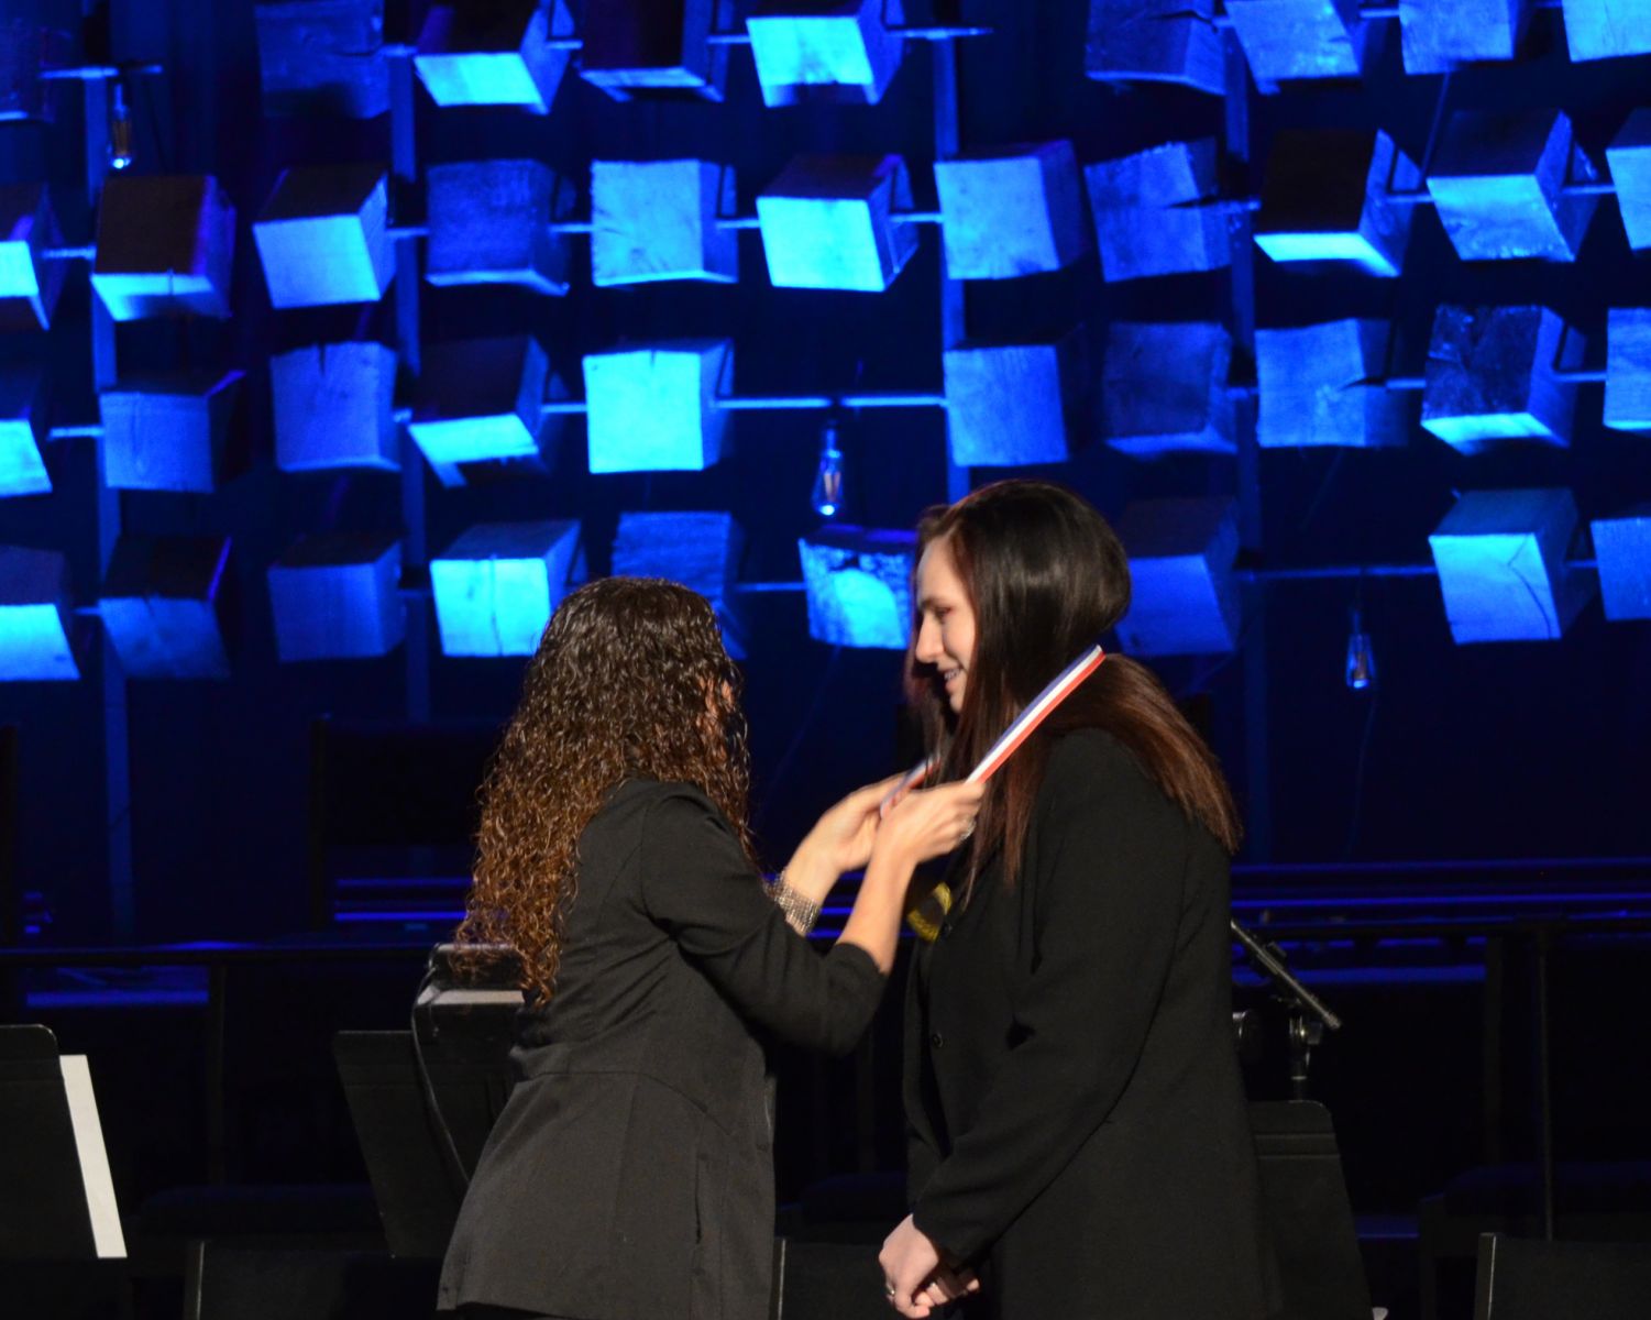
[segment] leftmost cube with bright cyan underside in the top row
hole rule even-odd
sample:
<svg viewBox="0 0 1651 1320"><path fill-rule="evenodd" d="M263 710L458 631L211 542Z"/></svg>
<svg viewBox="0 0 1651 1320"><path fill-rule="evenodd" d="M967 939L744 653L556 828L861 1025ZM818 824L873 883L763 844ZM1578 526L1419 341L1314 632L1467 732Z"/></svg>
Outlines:
<svg viewBox="0 0 1651 1320"><path fill-rule="evenodd" d="M438 106L548 114L573 53L566 0L433 5L413 68Z"/></svg>

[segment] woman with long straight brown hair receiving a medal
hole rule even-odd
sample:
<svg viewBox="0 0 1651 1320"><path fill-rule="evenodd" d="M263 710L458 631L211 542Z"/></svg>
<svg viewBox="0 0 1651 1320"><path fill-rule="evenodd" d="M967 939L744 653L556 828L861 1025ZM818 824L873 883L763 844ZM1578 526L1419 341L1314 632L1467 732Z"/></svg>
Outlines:
<svg viewBox="0 0 1651 1320"><path fill-rule="evenodd" d="M938 781L967 775L1129 608L1080 496L1005 481L920 527L910 653ZM1232 1042L1213 755L1108 656L991 780L908 988L913 1213L883 1244L901 1315L1255 1320L1255 1151Z"/></svg>

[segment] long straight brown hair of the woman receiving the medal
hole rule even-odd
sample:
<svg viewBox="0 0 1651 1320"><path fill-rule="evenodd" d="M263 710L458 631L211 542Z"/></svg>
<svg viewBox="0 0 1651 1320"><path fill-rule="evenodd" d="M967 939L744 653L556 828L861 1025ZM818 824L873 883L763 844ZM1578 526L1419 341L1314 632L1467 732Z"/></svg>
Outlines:
<svg viewBox="0 0 1651 1320"><path fill-rule="evenodd" d="M953 714L939 676L915 649L906 653L906 681L925 747L939 758L936 778L958 780L1050 679L1124 616L1129 562L1088 501L1047 481L999 481L930 509L918 524L918 553L941 540L974 608L963 709ZM1004 882L1015 882L1050 747L1073 729L1105 729L1171 801L1237 851L1238 811L1215 755L1146 666L1109 654L992 778L966 889L999 849Z"/></svg>

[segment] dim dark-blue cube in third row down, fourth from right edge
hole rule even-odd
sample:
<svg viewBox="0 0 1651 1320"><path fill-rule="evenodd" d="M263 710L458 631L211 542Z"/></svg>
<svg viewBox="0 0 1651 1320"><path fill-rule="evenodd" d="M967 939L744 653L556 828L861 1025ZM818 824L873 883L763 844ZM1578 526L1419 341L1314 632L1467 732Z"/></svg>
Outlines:
<svg viewBox="0 0 1651 1320"><path fill-rule="evenodd" d="M1233 453L1232 340L1212 322L1114 321L1101 367L1101 434L1134 458Z"/></svg>

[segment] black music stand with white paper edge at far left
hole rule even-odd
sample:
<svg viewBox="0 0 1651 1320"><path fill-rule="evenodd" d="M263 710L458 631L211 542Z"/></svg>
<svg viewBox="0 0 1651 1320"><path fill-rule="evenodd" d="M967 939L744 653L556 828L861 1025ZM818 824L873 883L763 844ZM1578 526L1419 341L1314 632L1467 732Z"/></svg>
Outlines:
<svg viewBox="0 0 1651 1320"><path fill-rule="evenodd" d="M0 1026L0 1261L124 1259L86 1057L43 1026Z"/></svg>

